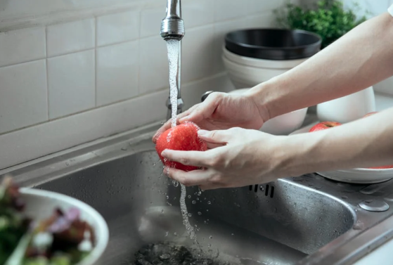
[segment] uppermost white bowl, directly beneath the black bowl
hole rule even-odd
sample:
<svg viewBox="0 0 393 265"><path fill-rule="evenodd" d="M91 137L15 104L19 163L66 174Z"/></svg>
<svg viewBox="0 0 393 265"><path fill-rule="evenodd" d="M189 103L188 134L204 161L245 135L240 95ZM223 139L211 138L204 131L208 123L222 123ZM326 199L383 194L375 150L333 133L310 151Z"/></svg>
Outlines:
<svg viewBox="0 0 393 265"><path fill-rule="evenodd" d="M239 56L236 53L228 51L225 46L222 48L224 56L231 60L233 63L239 65L252 66L257 68L270 68L270 69L284 69L290 70L293 67L303 63L308 58L297 59L297 60L262 60L257 58L250 58L245 56Z"/></svg>

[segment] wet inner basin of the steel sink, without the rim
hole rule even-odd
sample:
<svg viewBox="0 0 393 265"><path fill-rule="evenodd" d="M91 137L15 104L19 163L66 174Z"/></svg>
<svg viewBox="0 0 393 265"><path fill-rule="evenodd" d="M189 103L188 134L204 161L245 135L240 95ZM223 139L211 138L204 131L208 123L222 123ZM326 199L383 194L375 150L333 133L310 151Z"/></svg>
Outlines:
<svg viewBox="0 0 393 265"><path fill-rule="evenodd" d="M161 175L158 160L154 151L136 153L37 188L98 209L110 226L103 264L132 264L134 252L146 243L193 246L182 224L180 187ZM257 186L256 192L248 186L187 192L190 221L205 253L234 264L295 264L354 224L351 210L337 200L283 182Z"/></svg>

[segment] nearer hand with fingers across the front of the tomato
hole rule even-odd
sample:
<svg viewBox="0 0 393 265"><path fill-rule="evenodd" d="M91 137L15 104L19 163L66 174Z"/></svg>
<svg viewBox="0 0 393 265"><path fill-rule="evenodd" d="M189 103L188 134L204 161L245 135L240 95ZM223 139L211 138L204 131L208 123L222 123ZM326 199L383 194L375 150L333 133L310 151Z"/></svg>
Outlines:
<svg viewBox="0 0 393 265"><path fill-rule="evenodd" d="M183 172L166 167L164 173L169 178L185 186L210 190L267 183L284 176L278 170L280 162L273 158L285 153L280 141L283 136L240 128L200 130L198 134L212 149L205 152L164 150L162 156L203 169Z"/></svg>

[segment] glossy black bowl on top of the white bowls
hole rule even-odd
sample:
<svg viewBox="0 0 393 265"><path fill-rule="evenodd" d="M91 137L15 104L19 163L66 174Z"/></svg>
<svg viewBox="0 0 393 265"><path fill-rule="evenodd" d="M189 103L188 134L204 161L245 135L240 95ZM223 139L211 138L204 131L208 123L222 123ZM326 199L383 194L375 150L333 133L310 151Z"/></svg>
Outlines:
<svg viewBox="0 0 393 265"><path fill-rule="evenodd" d="M229 32L228 51L264 60L295 60L314 56L321 50L321 37L305 30L253 29Z"/></svg>

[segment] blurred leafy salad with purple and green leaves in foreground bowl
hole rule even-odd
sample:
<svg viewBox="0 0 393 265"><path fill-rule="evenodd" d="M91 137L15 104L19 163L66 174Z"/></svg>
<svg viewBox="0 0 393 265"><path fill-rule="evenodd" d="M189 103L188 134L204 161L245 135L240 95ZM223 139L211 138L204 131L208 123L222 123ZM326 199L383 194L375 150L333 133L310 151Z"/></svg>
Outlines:
<svg viewBox="0 0 393 265"><path fill-rule="evenodd" d="M23 214L24 206L18 186L5 179L0 186L0 265L73 265L93 249L93 228L80 219L79 209L53 209L48 218L34 221Z"/></svg>

